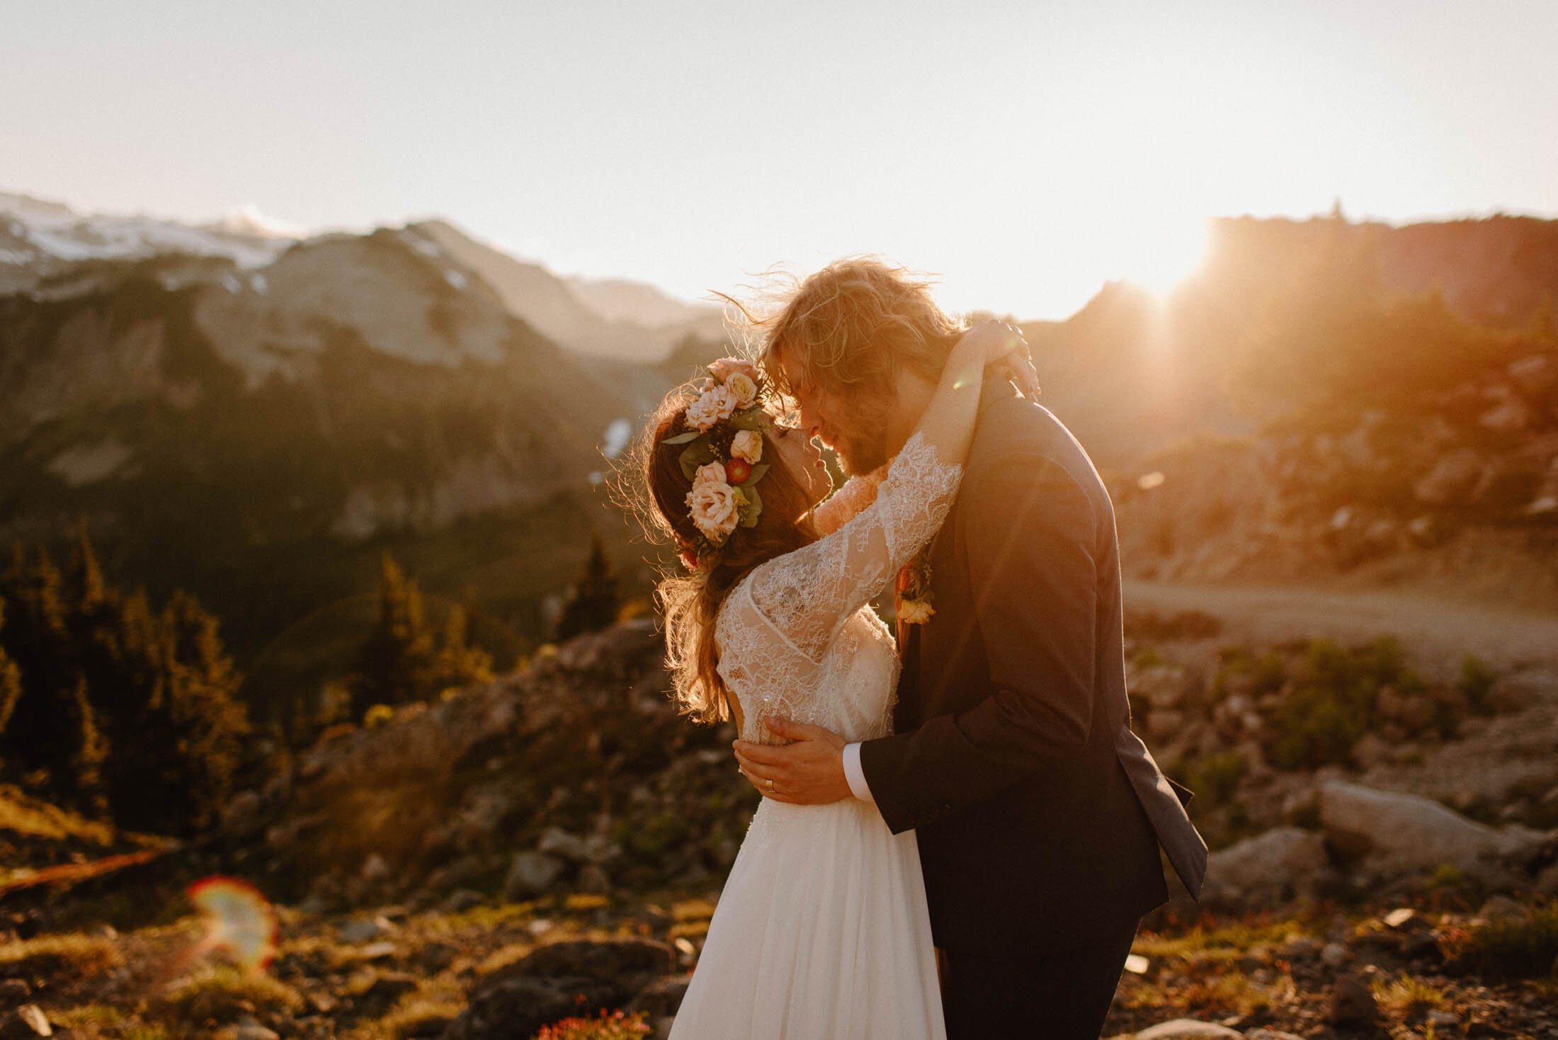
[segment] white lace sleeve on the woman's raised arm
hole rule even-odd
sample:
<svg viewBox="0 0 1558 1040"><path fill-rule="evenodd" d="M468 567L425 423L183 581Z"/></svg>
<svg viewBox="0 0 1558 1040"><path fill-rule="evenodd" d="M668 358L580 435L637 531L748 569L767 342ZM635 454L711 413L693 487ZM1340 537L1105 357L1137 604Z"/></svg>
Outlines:
<svg viewBox="0 0 1558 1040"><path fill-rule="evenodd" d="M821 660L838 626L941 528L961 476L961 466L938 461L915 433L876 501L821 540L753 571L753 604L795 649Z"/></svg>

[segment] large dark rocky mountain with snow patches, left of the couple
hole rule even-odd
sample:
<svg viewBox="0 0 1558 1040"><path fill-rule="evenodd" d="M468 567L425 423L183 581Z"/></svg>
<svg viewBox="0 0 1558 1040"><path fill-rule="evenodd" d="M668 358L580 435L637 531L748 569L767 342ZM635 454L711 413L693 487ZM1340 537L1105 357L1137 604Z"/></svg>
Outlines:
<svg viewBox="0 0 1558 1040"><path fill-rule="evenodd" d="M31 279L0 296L0 540L62 550L84 520L123 581L199 596L257 680L349 652L383 548L435 613L474 603L505 665L548 637L592 529L642 553L598 481L665 377L558 347L424 235L235 257L154 227L78 255L28 221L53 252L0 257Z"/></svg>

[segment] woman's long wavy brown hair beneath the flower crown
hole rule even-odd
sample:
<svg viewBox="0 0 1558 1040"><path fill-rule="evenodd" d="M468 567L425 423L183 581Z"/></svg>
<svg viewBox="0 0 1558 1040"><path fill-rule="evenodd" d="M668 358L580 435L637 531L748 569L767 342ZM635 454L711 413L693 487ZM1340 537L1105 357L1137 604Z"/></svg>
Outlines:
<svg viewBox="0 0 1558 1040"><path fill-rule="evenodd" d="M692 481L678 462L679 448L667 437L687 433L686 388L673 389L656 408L622 470L619 484L626 504L637 514L645 532L670 542L678 554L696 551L698 529L687 509ZM785 466L773 447L773 425L763 428L763 512L751 528L735 528L724 545L704 551L698 570L678 573L676 565L661 574L654 596L665 617L665 662L681 710L698 722L731 718L728 690L717 666L720 651L714 621L731 590L754 567L810 545L818 532L812 523L810 481Z"/></svg>

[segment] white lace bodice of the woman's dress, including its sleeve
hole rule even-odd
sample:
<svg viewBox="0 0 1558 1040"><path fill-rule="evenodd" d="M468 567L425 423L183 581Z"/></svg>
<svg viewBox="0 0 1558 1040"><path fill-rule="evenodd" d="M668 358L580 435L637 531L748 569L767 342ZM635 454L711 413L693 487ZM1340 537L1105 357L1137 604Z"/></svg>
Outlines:
<svg viewBox="0 0 1558 1040"><path fill-rule="evenodd" d="M924 548L952 508L963 467L916 433L876 500L832 534L753 570L715 621L720 676L742 702L742 738L773 743L781 715L846 740L891 730L897 654L866 607Z"/></svg>

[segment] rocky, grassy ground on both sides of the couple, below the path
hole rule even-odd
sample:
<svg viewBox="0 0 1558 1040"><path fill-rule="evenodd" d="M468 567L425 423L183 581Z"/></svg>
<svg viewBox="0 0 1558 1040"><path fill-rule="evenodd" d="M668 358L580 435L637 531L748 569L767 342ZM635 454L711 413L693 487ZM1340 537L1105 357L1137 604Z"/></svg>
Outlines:
<svg viewBox="0 0 1558 1040"><path fill-rule="evenodd" d="M1558 1035L1542 641L1468 660L1363 629L1270 638L1203 603L1130 618L1136 724L1198 789L1215 852L1203 903L1145 922L1106 1035ZM601 1007L626 1018L575 1035L664 1032L754 796L726 732L670 713L656 657L651 629L620 626L330 733L201 844L58 814L56 839L23 839L36 806L0 813L50 867L153 853L5 875L0 1037L523 1038ZM260 970L241 900L190 901L218 873L274 912Z"/></svg>

